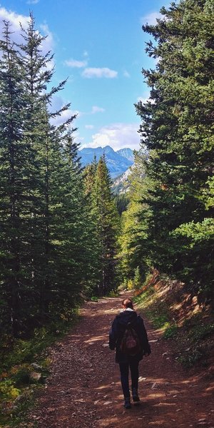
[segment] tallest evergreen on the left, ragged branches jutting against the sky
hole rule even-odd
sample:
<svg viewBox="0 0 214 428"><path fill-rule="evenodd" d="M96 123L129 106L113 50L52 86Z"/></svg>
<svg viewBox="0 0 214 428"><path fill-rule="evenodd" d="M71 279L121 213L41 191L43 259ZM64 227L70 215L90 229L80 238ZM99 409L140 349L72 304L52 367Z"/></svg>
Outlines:
<svg viewBox="0 0 214 428"><path fill-rule="evenodd" d="M34 180L37 181L36 200L34 206L34 234L32 243L34 248L34 290L39 295L39 312L42 317L49 312L49 304L53 298L53 284L55 265L53 269L52 253L54 245L51 232L54 224L54 198L55 175L61 168L61 140L66 128L76 116L71 116L66 123L56 128L51 120L60 116L70 106L67 104L59 111L50 112L52 97L63 89L66 81L52 87L49 83L54 73L50 66L53 55L50 52L42 54L41 44L46 39L35 28L34 16L31 14L27 29L21 28L24 44L19 46L21 70L24 76L28 102L28 136L31 146L36 150L37 171Z"/></svg>

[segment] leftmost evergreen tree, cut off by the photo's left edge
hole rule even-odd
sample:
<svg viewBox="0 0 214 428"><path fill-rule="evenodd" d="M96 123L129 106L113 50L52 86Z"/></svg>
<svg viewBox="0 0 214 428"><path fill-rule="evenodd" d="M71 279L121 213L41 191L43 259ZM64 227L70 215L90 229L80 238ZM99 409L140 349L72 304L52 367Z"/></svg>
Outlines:
<svg viewBox="0 0 214 428"><path fill-rule="evenodd" d="M31 277L31 209L34 148L26 138L26 96L18 52L4 22L0 61L1 285L7 325L16 337L23 328L26 289Z"/></svg>

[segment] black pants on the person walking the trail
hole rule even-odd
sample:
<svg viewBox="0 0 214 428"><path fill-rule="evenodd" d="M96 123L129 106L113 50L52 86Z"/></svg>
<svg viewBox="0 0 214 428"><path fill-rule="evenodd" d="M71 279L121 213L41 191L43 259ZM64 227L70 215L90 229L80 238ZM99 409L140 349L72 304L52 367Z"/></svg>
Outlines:
<svg viewBox="0 0 214 428"><path fill-rule="evenodd" d="M130 360L128 362L119 363L120 371L121 371L121 385L123 389L124 398L130 397L129 384L128 384L129 368L131 371L131 389L133 388L138 389L138 377L139 377L138 365L139 365L139 362L136 360L133 360L133 361Z"/></svg>

